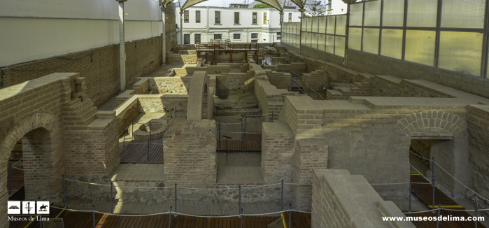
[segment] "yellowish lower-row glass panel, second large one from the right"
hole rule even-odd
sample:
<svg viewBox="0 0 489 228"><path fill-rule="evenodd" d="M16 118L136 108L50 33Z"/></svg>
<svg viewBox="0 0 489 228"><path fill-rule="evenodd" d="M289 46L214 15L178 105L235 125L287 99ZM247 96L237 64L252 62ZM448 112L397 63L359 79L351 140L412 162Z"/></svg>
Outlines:
<svg viewBox="0 0 489 228"><path fill-rule="evenodd" d="M435 31L406 31L404 60L433 66Z"/></svg>

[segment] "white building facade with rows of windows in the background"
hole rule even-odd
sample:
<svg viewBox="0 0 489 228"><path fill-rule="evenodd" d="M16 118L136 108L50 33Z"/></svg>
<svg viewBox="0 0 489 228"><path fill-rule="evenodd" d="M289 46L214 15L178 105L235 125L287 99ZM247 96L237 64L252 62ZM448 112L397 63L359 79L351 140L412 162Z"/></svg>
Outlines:
<svg viewBox="0 0 489 228"><path fill-rule="evenodd" d="M274 8L224 8L192 6L183 17L184 44L205 43L211 39L229 39L236 43L280 42L280 13ZM284 22L300 22L301 13L285 8ZM180 28L180 8L176 8L176 22ZM178 32L178 44L181 44Z"/></svg>

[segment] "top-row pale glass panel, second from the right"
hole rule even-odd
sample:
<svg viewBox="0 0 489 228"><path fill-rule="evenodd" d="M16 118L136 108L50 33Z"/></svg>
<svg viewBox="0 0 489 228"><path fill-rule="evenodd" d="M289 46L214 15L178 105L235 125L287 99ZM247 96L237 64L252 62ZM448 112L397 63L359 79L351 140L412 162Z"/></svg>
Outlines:
<svg viewBox="0 0 489 228"><path fill-rule="evenodd" d="M409 0L407 26L435 27L437 26L437 1Z"/></svg>

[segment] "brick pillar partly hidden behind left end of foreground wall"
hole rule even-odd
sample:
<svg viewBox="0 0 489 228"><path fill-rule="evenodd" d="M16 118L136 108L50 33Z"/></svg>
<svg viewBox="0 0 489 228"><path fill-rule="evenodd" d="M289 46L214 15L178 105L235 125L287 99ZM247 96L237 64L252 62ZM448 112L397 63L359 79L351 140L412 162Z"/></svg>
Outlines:
<svg viewBox="0 0 489 228"><path fill-rule="evenodd" d="M311 210L313 169L327 168L327 144L324 138L302 138L295 143L292 187L292 206L299 210Z"/></svg>

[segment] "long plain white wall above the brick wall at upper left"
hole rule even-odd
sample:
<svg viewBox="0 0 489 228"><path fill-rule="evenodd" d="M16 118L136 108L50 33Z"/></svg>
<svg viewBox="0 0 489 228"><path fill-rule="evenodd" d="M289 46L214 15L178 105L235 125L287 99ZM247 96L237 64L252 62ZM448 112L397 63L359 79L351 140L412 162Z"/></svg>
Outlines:
<svg viewBox="0 0 489 228"><path fill-rule="evenodd" d="M119 43L115 0L0 0L0 6L0 66ZM157 1L127 1L125 12L126 41L162 33Z"/></svg>

